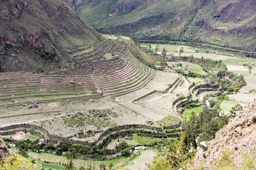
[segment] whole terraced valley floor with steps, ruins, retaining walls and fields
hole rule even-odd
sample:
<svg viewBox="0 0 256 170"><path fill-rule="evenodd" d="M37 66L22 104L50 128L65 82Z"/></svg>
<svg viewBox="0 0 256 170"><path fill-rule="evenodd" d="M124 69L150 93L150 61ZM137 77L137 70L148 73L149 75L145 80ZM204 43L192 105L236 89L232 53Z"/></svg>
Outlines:
<svg viewBox="0 0 256 170"><path fill-rule="evenodd" d="M76 167L146 170L155 150L165 152L181 124L207 105L205 96L225 99L220 107L227 113L256 98L254 59L169 44L152 54L148 44L139 49L127 37L105 37L109 41L71 52L68 67L0 73L0 134L18 149L28 146L24 152L43 167L67 164L65 154L74 148L90 158L74 159ZM168 65L158 57L163 48ZM31 152L35 148L42 152Z"/></svg>

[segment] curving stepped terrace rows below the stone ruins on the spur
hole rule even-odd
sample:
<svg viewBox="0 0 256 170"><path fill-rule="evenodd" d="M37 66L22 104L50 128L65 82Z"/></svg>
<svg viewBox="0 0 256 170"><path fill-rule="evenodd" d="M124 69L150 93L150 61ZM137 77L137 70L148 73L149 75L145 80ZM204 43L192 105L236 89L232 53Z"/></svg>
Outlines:
<svg viewBox="0 0 256 170"><path fill-rule="evenodd" d="M39 99L45 99L41 100L41 102L45 102L52 101L55 98L64 100L102 97L96 94L96 89L101 89L105 95L110 96L118 96L135 91L146 85L154 77L155 70L142 64L130 51L125 52L122 49L126 49L126 47L116 48L122 53L122 56L100 61L95 68L97 70L92 72L85 68L82 68L85 69L85 72L82 69L72 72L72 69L74 69L72 68L65 70L66 73L70 73L68 75L18 72L10 73L6 78L3 74L0 74L0 77L3 78L0 86L0 101L5 101L6 103L6 100L16 99L26 102L25 100L42 97ZM115 51L115 49L112 50ZM84 56L81 54L78 57L86 57L86 54ZM93 53L90 53L87 57L103 58L102 55L96 56ZM90 63L89 65L93 67L97 63ZM104 65L104 67L101 69L100 65ZM88 71L89 74L87 74ZM3 86L5 87L2 88ZM49 96L49 100L47 96ZM7 102L4 105L15 104Z"/></svg>

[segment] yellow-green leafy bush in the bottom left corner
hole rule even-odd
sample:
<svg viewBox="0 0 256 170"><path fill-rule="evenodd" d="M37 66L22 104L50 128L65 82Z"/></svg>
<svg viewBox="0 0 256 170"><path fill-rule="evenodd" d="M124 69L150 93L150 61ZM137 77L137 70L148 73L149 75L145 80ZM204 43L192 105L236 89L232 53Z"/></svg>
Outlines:
<svg viewBox="0 0 256 170"><path fill-rule="evenodd" d="M0 166L0 170L36 170L32 163L25 161L20 156L9 156L5 158L5 163Z"/></svg>

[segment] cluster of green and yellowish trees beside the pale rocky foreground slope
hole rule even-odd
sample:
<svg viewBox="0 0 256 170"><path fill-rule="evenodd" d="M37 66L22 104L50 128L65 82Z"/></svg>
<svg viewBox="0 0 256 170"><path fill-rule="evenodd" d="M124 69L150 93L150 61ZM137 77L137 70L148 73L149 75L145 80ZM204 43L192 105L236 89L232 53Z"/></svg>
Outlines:
<svg viewBox="0 0 256 170"><path fill-rule="evenodd" d="M171 170L186 166L195 155L197 143L213 139L216 132L233 116L219 116L217 104L213 108L205 106L198 116L192 112L190 120L183 124L180 138L170 143L165 151L166 156L154 160L150 170Z"/></svg>

